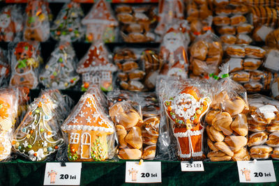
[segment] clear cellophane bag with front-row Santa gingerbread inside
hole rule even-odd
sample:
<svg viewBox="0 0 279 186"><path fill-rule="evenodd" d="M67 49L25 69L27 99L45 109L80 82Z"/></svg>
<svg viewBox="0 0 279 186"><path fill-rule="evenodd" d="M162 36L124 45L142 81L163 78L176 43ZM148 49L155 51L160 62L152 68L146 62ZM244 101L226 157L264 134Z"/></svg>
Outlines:
<svg viewBox="0 0 279 186"><path fill-rule="evenodd" d="M161 118L156 160L204 160L202 116L211 104L208 84L161 77L157 93Z"/></svg>

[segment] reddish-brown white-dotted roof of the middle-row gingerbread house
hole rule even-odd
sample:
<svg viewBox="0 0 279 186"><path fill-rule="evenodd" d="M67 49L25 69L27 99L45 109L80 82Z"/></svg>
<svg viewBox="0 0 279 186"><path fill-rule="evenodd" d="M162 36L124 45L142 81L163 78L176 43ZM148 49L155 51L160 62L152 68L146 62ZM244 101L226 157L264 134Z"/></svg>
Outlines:
<svg viewBox="0 0 279 186"><path fill-rule="evenodd" d="M89 51L77 65L77 73L80 74L98 70L116 71L116 66L108 59L108 52L103 42L91 45Z"/></svg>

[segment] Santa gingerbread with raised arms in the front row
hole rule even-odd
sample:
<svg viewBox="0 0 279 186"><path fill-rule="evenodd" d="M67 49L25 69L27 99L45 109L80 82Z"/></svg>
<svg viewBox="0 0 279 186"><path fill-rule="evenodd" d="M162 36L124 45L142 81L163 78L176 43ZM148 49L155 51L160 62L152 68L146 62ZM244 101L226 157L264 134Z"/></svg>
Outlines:
<svg viewBox="0 0 279 186"><path fill-rule="evenodd" d="M186 86L173 98L165 100L167 116L172 121L172 130L178 143L180 160L202 160L204 126L200 119L211 104L209 97L202 98L195 86Z"/></svg>

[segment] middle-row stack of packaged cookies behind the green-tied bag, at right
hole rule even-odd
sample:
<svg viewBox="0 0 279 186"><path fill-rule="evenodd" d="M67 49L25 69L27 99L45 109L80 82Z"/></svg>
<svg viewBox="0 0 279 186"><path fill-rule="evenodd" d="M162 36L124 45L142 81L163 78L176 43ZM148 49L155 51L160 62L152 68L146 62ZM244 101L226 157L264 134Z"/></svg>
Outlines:
<svg viewBox="0 0 279 186"><path fill-rule="evenodd" d="M252 45L230 45L226 49L229 73L232 79L243 84L248 92L269 91L272 73L257 70L263 63L266 51Z"/></svg>

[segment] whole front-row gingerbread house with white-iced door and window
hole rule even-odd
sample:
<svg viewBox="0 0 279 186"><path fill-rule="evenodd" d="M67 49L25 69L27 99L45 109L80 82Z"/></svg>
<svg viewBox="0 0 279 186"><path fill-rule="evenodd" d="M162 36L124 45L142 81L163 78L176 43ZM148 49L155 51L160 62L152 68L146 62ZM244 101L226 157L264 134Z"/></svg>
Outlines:
<svg viewBox="0 0 279 186"><path fill-rule="evenodd" d="M61 127L68 133L68 159L72 162L108 158L107 135L114 133L114 125L103 113L98 98L85 93Z"/></svg>

